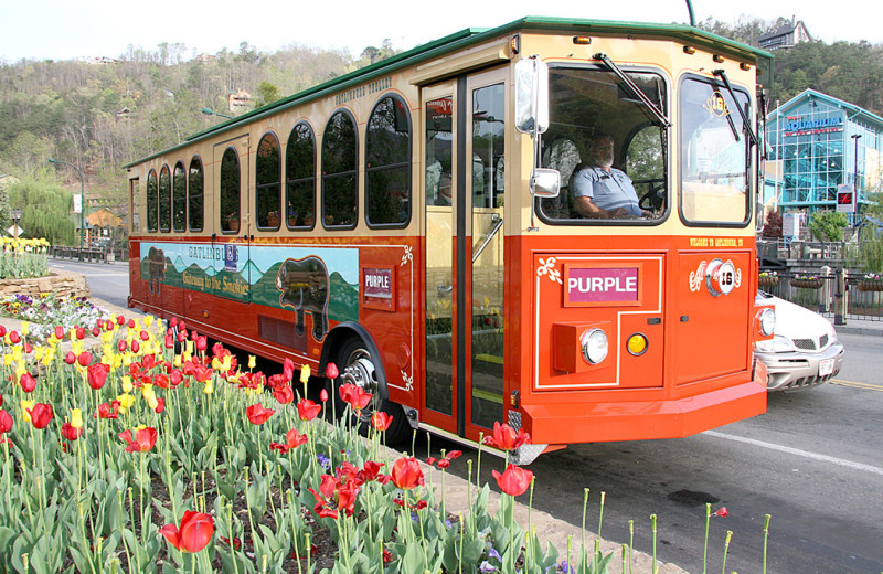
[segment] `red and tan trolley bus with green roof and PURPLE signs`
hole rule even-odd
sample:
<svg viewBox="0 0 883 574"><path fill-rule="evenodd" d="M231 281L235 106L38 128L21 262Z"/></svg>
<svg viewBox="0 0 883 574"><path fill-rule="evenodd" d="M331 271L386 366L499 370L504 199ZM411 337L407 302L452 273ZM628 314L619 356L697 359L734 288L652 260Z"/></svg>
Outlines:
<svg viewBox="0 0 883 574"><path fill-rule="evenodd" d="M334 361L400 433L524 428L522 463L763 413L767 60L685 25L535 18L404 52L127 166L130 306ZM589 216L607 191L587 180L628 210Z"/></svg>

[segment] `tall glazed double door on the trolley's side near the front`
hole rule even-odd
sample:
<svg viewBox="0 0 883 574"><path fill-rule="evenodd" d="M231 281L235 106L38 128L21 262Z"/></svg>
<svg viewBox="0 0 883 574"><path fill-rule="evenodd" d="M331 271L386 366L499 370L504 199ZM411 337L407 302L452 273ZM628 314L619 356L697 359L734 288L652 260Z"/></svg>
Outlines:
<svg viewBox="0 0 883 574"><path fill-rule="evenodd" d="M424 89L424 421L477 439L503 421L506 70Z"/></svg>

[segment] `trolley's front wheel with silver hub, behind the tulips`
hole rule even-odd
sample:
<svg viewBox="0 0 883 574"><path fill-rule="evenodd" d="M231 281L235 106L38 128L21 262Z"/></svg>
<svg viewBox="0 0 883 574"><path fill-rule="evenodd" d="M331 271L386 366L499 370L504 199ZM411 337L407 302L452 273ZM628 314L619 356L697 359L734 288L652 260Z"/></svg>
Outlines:
<svg viewBox="0 0 883 574"><path fill-rule="evenodd" d="M386 442L397 443L407 438L411 435L411 425L405 418L405 412L398 403L381 398L374 358L365 349L362 340L358 337L350 337L343 341L334 353L334 362L338 365L340 375L334 381L326 379L326 390L334 401L338 416L347 408L347 403L340 397L340 387L344 384L354 384L372 395L371 402L362 408L361 416L358 419L353 416L353 422L358 424L359 433L368 436L374 413L383 412L393 417L390 427L386 429Z"/></svg>

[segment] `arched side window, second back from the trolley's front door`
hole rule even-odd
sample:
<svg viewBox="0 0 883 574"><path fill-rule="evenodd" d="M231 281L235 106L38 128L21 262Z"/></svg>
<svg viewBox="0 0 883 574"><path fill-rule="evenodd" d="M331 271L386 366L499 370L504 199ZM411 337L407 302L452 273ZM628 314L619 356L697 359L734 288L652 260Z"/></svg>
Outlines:
<svg viewBox="0 0 883 574"><path fill-rule="evenodd" d="M355 120L349 111L331 116L322 136L322 224L353 228L359 217Z"/></svg>

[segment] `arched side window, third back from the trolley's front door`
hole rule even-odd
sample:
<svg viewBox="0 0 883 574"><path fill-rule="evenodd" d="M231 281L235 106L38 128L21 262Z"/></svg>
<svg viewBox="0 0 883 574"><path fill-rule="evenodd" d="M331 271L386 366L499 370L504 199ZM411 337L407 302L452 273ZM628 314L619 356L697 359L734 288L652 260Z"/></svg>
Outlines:
<svg viewBox="0 0 883 574"><path fill-rule="evenodd" d="M311 230L316 224L316 138L306 121L297 124L285 150L286 224Z"/></svg>

